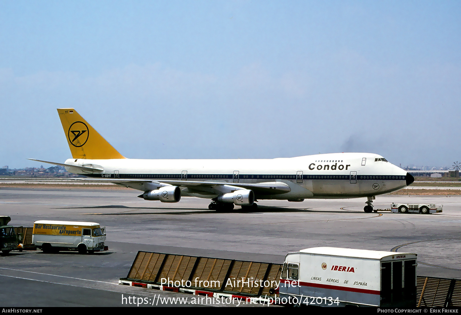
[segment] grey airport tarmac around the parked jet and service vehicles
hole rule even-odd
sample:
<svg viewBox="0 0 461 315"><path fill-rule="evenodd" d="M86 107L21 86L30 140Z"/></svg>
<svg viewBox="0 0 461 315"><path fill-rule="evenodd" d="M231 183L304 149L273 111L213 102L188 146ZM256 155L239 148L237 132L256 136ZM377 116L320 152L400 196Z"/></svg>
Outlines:
<svg viewBox="0 0 461 315"><path fill-rule="evenodd" d="M287 252L309 247L397 248L418 254L418 275L461 279L461 196L384 195L373 203L375 209L390 208L392 202L443 204L443 213L420 215L365 213L365 198L263 200L253 212L236 207L217 213L208 210L207 199L165 204L137 198L139 193L2 187L0 215L11 216L10 224L98 222L106 227L109 246L109 251L93 255L15 251L0 257L3 306L125 306L122 294L151 300L159 294L191 297L118 285L140 250L282 263Z"/></svg>

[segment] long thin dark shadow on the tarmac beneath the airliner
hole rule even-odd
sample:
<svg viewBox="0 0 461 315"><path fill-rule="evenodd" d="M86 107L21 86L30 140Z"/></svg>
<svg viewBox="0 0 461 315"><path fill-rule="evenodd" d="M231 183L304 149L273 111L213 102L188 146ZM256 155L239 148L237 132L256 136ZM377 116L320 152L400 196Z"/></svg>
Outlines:
<svg viewBox="0 0 461 315"><path fill-rule="evenodd" d="M128 207L124 205L102 205L102 206L91 206L91 207L62 207L62 208L52 208L52 209L127 209L128 211L136 210L196 210L196 211L181 211L181 212L118 212L118 213L85 213L85 215L95 216L124 216L124 215L193 215L193 214L207 214L207 213L269 213L269 212L297 212L297 213L341 213L341 214L353 214L353 213L364 213L363 211L355 210L313 210L313 208L285 208L285 207L270 207L270 206L258 206L258 209L255 210L243 210L241 208L225 211L210 211L208 209L197 209L197 208L161 208L161 207Z"/></svg>

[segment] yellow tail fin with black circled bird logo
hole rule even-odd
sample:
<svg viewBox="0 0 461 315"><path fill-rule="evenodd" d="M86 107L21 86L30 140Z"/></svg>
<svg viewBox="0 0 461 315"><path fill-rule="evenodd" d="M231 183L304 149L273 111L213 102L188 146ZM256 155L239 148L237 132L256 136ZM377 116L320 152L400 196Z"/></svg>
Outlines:
<svg viewBox="0 0 461 315"><path fill-rule="evenodd" d="M58 114L73 158L125 158L73 108L58 108Z"/></svg>

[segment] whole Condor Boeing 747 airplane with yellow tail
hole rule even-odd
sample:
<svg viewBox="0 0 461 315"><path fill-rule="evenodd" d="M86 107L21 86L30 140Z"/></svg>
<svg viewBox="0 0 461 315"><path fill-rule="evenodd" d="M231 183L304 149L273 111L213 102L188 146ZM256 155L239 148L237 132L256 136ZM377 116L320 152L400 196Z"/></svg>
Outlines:
<svg viewBox="0 0 461 315"><path fill-rule="evenodd" d="M373 211L376 195L414 181L407 171L373 153L328 153L274 159L145 160L122 156L73 108L58 109L72 158L68 172L142 191L138 197L178 202L181 196L211 199L210 210L257 208L264 199L366 197Z"/></svg>

